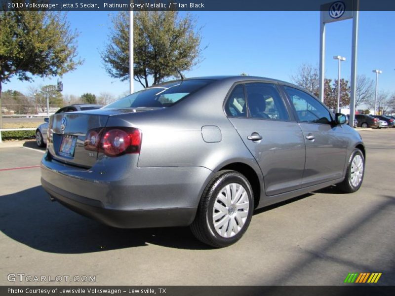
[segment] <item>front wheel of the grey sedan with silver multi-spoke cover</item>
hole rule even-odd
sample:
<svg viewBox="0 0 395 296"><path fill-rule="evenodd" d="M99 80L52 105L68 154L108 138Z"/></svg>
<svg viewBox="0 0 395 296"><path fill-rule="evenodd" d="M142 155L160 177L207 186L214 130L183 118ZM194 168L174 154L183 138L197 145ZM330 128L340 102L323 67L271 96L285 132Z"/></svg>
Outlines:
<svg viewBox="0 0 395 296"><path fill-rule="evenodd" d="M350 156L347 167L346 177L338 186L340 190L346 193L352 193L362 185L363 175L365 172L365 158L361 150L356 148Z"/></svg>

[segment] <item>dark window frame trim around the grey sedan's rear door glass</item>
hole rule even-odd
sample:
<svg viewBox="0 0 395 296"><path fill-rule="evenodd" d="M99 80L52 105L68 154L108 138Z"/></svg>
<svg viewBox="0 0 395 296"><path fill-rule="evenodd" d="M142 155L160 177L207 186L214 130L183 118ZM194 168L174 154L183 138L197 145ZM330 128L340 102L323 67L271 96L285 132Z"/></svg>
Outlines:
<svg viewBox="0 0 395 296"><path fill-rule="evenodd" d="M245 84L247 84L247 83L264 83L264 84L271 84L271 85L275 86L275 87L276 87L276 90L277 90L277 92L278 92L278 95L279 95L280 99L282 100L282 102L283 102L283 104L284 104L284 108L285 108L285 111L286 111L286 113L287 113L287 115L288 115L288 119L268 119L268 118L251 117L250 111L249 111L249 108L248 108L247 91L246 91L246 89L245 89ZM229 98L230 98L230 96L231 96L233 90L234 90L234 89L236 88L236 86L239 85L239 84L242 84L243 89L244 89L244 99L245 99L245 104L246 104L246 116L232 116L232 115L228 115L227 112L226 112L226 110L225 110L226 104L228 103L228 100L229 100ZM231 88L229 89L228 93L226 94L224 103L223 103L223 105L222 105L222 109L223 109L223 111L224 111L225 116L226 116L226 117L229 117L229 118L243 118L243 119L253 119L253 120L270 120L270 121L273 121L273 122L276 122L276 121L281 121L281 122L297 122L297 120L296 120L297 117L295 117L293 111L292 111L292 110L289 108L289 106L288 106L288 104L289 104L289 103L288 103L288 98L287 98L287 97L284 97L284 95L282 94L282 90L281 90L281 88L280 88L279 86L280 86L279 83L278 83L278 82L275 82L275 81L242 80L242 81L237 81L237 82L235 82L235 83L231 86Z"/></svg>

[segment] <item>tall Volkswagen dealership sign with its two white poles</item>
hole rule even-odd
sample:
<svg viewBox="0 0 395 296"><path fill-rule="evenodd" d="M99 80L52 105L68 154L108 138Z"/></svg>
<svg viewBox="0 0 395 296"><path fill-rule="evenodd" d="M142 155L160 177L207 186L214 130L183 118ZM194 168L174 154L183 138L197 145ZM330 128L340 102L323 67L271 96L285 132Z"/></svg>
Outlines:
<svg viewBox="0 0 395 296"><path fill-rule="evenodd" d="M353 126L355 117L356 95L356 53L358 43L358 8L359 0L342 0L329 2L321 5L320 38L319 38L319 99L324 101L325 82L325 24L347 19L353 19L353 44L351 55L351 98L350 98L350 122Z"/></svg>

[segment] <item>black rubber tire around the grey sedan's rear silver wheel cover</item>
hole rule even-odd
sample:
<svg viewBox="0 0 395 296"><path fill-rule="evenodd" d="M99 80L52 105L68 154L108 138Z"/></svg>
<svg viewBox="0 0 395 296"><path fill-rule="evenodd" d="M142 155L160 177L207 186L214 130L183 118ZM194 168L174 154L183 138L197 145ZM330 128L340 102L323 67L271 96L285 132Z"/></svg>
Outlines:
<svg viewBox="0 0 395 296"><path fill-rule="evenodd" d="M216 203L216 205L218 205L219 203L219 205L221 206L221 201L217 200L217 196L221 193L222 190L225 190L227 185L232 185L232 184L241 185L241 187L245 190L247 196L244 195L243 200L246 202L246 199L248 199L248 205L246 205L246 203L244 205L245 208L248 207L248 213L245 213L246 212L245 209L243 210L239 208L235 209L235 206L230 206L229 208L227 208L226 205L223 204L225 208L228 210L228 216L225 215L223 216L223 218L218 219L216 222L225 221L226 219L228 219L227 220L228 222L225 222L222 228L227 227L225 229L230 229L230 227L232 227L230 234L231 236L224 237L217 232L214 226L213 215L215 213L220 214L219 212L214 212L214 211L218 211L217 209L214 210L214 203ZM241 187L239 187L239 189ZM241 197L236 201L236 204L238 203L239 200L241 200ZM215 248L223 248L230 246L236 243L248 228L248 225L252 218L253 205L254 205L254 195L248 180L242 174L236 171L231 171L231 170L220 171L214 175L214 177L211 179L211 181L208 183L208 185L203 191L199 206L197 208L197 214L195 220L194 222L192 222L190 226L192 233L199 241L209 246ZM231 207L234 208L230 209ZM237 215L240 213L240 211L243 212L243 215L246 215L245 217L246 219L243 224L237 222L239 219L239 216ZM232 220L231 218L228 218L235 216L237 217L232 218L233 221L231 221ZM233 229L235 229L234 227L238 228L239 225L241 225L240 229L237 230L238 232L236 232L235 230L234 231L235 234L233 234Z"/></svg>

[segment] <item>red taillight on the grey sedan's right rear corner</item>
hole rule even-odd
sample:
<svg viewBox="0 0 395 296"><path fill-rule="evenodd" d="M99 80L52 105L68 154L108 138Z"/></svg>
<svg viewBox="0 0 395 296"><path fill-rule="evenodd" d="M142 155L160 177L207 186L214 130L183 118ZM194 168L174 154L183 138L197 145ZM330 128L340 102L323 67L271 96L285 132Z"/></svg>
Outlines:
<svg viewBox="0 0 395 296"><path fill-rule="evenodd" d="M108 156L140 153L141 131L133 127L92 129L86 133L84 148Z"/></svg>

